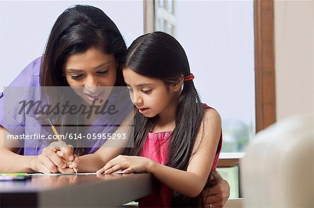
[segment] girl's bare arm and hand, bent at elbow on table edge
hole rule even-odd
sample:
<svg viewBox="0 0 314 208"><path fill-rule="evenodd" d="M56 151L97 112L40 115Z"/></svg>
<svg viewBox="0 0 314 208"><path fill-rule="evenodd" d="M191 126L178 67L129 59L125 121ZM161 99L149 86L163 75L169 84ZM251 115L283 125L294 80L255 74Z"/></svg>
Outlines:
<svg viewBox="0 0 314 208"><path fill-rule="evenodd" d="M124 173L152 173L170 189L188 197L196 197L204 189L214 162L220 139L221 120L214 109L208 109L197 134L193 156L186 171L161 165L144 157L116 157L109 161L98 173L113 173L124 169ZM183 141L184 142L184 141Z"/></svg>

